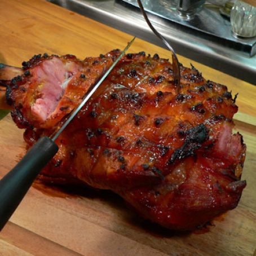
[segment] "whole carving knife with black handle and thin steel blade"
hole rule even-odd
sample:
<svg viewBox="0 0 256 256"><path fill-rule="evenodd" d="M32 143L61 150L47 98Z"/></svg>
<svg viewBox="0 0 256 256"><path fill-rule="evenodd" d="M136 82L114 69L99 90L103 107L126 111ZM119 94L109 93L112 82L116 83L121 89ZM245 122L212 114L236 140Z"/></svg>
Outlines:
<svg viewBox="0 0 256 256"><path fill-rule="evenodd" d="M20 162L0 180L0 231L7 223L8 219L10 219L17 206L19 206L21 200L28 192L28 189L31 187L42 168L45 167L58 152L58 145L54 141L65 127L68 126L70 121L73 120L83 105L91 98L92 94L98 89L122 56L125 55L125 52L134 42L135 38L136 37L127 44L107 72L105 72L100 80L85 94L80 105L73 110L63 125L50 137L44 136L40 138L38 142L29 149Z"/></svg>

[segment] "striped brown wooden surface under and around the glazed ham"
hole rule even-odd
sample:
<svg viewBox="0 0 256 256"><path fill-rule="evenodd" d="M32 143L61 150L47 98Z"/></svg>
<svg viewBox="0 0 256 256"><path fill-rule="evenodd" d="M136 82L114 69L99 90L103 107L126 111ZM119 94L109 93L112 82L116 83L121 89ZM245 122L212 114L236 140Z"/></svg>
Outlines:
<svg viewBox="0 0 256 256"><path fill-rule="evenodd" d="M123 48L132 36L43 0L0 1L0 62L20 66L34 54L98 56ZM163 48L136 39L131 52ZM239 206L214 220L209 231L179 233L139 218L108 191L83 188L78 195L34 184L0 233L0 255L253 255L256 247L256 87L190 62L204 77L239 92L236 130L248 146ZM0 121L0 177L25 152L23 131L10 115Z"/></svg>

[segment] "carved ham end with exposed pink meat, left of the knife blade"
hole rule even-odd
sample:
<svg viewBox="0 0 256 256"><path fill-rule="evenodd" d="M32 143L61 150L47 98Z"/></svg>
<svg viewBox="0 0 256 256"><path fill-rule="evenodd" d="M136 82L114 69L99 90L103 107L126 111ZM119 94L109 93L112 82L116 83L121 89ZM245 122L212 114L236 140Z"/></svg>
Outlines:
<svg viewBox="0 0 256 256"><path fill-rule="evenodd" d="M55 126L76 107L92 83L112 64L112 58L78 60L73 55L34 55L23 63L23 76L11 80L7 101L20 128ZM14 100L15 99L15 100Z"/></svg>

